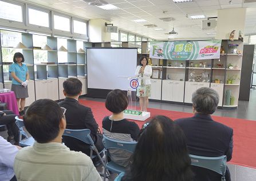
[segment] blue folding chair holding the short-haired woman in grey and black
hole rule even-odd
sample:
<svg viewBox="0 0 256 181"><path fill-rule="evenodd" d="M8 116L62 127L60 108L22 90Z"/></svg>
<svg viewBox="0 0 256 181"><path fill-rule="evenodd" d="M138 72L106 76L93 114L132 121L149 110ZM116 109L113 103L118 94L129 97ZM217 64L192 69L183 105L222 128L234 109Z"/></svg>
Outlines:
<svg viewBox="0 0 256 181"><path fill-rule="evenodd" d="M107 159L108 158L108 149L116 148L116 149L125 150L125 151L133 153L137 142L126 142L126 141L111 139L105 135L103 135L103 142L104 142L104 147L107 150L106 154L105 154L105 165L104 165L104 181L105 181L106 171L112 171L117 174L120 174L121 172L125 172L125 167L120 166L119 164L116 164L113 161L108 162L108 159Z"/></svg>

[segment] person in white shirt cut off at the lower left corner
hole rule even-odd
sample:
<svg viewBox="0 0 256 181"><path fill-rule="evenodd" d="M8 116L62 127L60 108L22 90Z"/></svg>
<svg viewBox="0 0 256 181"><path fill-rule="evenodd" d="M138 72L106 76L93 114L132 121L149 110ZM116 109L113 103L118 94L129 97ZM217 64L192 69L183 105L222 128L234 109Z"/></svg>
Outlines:
<svg viewBox="0 0 256 181"><path fill-rule="evenodd" d="M0 136L0 180L1 181L14 181L16 180L13 163L14 158L18 153L18 149L21 147L14 146L7 142Z"/></svg>

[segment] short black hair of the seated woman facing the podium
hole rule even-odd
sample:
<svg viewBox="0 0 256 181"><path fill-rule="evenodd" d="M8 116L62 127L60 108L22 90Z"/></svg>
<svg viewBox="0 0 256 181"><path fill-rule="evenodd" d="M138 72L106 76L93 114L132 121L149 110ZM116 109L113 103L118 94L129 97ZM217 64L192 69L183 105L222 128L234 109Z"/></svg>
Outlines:
<svg viewBox="0 0 256 181"><path fill-rule="evenodd" d="M122 112L128 106L127 95L120 89L112 90L107 95L105 106L113 113Z"/></svg>

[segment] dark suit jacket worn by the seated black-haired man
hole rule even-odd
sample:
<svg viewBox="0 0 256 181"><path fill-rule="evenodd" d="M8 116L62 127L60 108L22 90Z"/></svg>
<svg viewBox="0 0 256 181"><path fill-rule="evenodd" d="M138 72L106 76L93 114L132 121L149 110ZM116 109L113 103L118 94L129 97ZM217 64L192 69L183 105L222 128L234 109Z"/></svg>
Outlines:
<svg viewBox="0 0 256 181"><path fill-rule="evenodd" d="M83 106L78 100L73 98L65 98L58 103L61 107L66 108L66 128L72 130L89 129L90 136L93 139L94 144L101 144L102 139L97 135L98 124L93 117L92 110L89 107ZM89 146L85 146L85 143L80 140L65 136L64 143L74 151L82 151L89 155ZM97 145L96 145L97 147Z"/></svg>

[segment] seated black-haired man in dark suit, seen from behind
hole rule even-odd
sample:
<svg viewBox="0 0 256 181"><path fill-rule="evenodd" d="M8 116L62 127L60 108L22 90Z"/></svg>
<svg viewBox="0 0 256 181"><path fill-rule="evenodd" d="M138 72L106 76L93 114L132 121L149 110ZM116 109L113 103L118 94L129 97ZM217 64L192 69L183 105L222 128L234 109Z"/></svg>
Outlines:
<svg viewBox="0 0 256 181"><path fill-rule="evenodd" d="M78 97L82 92L81 81L76 78L68 78L64 81L63 88L66 98L58 104L66 108L66 128L72 130L89 129L90 136L100 152L104 148L100 128L93 118L92 110L78 102ZM65 136L63 142L70 150L81 151L88 156L90 155L90 147L80 140Z"/></svg>

